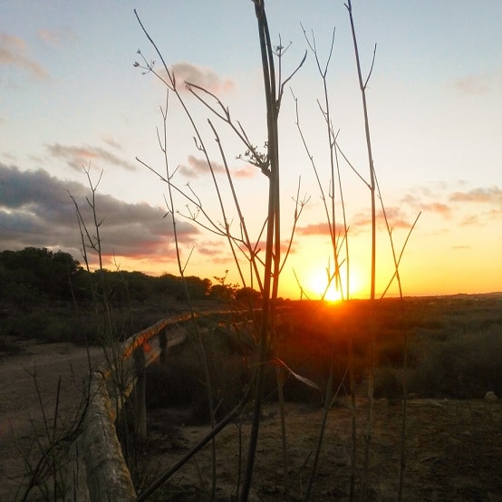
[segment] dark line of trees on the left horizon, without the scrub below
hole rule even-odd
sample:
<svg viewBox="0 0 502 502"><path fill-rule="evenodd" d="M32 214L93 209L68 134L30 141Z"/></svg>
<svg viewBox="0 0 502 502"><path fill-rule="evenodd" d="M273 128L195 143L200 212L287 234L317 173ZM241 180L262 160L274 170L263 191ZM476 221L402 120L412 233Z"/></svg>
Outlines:
<svg viewBox="0 0 502 502"><path fill-rule="evenodd" d="M154 277L122 270L88 272L63 251L25 247L21 251L0 252L0 301L29 308L44 301L92 300L92 276L95 281L101 273L106 275L111 300L117 304L185 298L184 286L176 275ZM249 288L213 285L207 278L187 276L185 280L193 300L238 299L249 293Z"/></svg>

